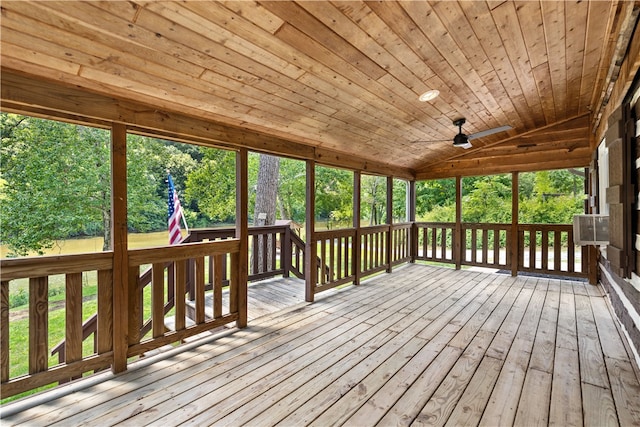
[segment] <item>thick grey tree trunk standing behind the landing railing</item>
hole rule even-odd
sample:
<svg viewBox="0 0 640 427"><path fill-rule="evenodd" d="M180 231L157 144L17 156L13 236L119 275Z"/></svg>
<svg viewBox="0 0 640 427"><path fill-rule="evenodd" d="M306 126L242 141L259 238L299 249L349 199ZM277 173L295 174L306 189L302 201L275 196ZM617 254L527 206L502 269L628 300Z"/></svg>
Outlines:
<svg viewBox="0 0 640 427"><path fill-rule="evenodd" d="M256 185L256 203L253 214L253 225L274 225L276 223L276 201L278 194L278 175L280 172L280 158L267 154L260 155L258 182ZM255 264L253 257L257 257L258 270L252 273L268 271L273 263L272 248L275 240L270 236L266 242L267 253L263 249L265 244L262 236L257 240L257 247L251 252L251 265ZM265 263L266 256L266 263ZM266 264L266 269L265 269Z"/></svg>

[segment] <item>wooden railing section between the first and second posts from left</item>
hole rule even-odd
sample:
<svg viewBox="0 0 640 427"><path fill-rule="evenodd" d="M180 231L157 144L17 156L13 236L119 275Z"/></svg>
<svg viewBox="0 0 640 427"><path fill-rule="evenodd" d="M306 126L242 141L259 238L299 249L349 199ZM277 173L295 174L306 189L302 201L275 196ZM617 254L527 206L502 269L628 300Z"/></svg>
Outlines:
<svg viewBox="0 0 640 427"><path fill-rule="evenodd" d="M129 350L128 357L179 342L185 338L216 329L238 320L238 259L240 240L187 243L163 248L129 251ZM229 307L222 306L223 268L229 257ZM212 289L205 286L205 258L209 259ZM173 266L167 266L172 263ZM151 265L151 287L141 286L145 265ZM187 316L187 282L194 277L194 314ZM150 306L145 306L145 291L150 293ZM173 299L173 310L167 303ZM208 300L208 301L206 301ZM205 311L208 311L205 313ZM167 314L170 317L167 317ZM142 326L150 320L151 335L142 335Z"/></svg>

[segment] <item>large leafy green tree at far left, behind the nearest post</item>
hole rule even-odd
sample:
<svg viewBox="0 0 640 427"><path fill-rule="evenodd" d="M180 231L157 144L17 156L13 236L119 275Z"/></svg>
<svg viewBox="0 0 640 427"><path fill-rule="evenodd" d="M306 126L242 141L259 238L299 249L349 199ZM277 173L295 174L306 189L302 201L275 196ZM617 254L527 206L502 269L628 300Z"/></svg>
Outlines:
<svg viewBox="0 0 640 427"><path fill-rule="evenodd" d="M0 239L18 255L42 253L56 240L102 235L111 243L110 134L106 130L1 114ZM187 159L188 158L188 159ZM166 227L166 169L190 156L171 144L129 136L128 226ZM193 162L191 160L191 162Z"/></svg>

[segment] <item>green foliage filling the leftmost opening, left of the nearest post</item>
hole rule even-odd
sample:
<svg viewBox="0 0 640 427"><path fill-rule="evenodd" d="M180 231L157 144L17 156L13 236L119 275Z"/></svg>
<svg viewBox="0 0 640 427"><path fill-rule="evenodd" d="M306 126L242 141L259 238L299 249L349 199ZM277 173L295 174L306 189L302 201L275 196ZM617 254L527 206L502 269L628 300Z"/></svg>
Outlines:
<svg viewBox="0 0 640 427"><path fill-rule="evenodd" d="M2 241L24 255L102 229L110 206L103 179L110 168L108 133L10 114L2 114L2 125Z"/></svg>

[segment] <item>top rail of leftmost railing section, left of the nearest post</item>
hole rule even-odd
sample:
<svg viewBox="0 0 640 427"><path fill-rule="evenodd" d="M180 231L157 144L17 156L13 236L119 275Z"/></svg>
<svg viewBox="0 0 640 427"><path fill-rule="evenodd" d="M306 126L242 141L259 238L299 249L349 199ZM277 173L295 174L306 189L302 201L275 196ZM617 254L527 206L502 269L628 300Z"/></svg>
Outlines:
<svg viewBox="0 0 640 427"><path fill-rule="evenodd" d="M112 264L113 252L111 251L31 258L2 258L0 259L0 278L7 281L55 274L109 270Z"/></svg>

